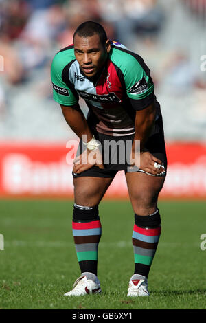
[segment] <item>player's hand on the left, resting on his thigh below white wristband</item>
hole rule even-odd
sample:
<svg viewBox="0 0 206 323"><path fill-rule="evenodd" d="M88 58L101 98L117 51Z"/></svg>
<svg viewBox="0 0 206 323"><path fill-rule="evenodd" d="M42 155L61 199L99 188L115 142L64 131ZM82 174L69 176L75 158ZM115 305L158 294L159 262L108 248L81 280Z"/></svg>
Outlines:
<svg viewBox="0 0 206 323"><path fill-rule="evenodd" d="M80 172L84 172L93 166L98 166L99 168L104 169L102 153L99 149L95 149L95 151L86 149L81 155L74 159L73 172L80 174Z"/></svg>

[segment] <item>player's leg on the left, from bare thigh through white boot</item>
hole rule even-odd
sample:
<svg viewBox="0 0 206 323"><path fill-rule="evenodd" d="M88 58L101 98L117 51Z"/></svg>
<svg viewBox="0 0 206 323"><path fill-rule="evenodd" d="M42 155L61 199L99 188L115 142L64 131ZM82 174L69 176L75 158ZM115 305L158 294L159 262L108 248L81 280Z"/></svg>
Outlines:
<svg viewBox="0 0 206 323"><path fill-rule="evenodd" d="M89 175L93 173L98 175L97 172L97 168L88 171ZM105 174L106 171L102 173L102 176L108 176ZM102 234L98 205L112 181L112 176L79 176L73 179L75 203L72 228L81 277L76 281L72 291L65 294L66 296L86 295L101 291L97 278L98 244Z"/></svg>

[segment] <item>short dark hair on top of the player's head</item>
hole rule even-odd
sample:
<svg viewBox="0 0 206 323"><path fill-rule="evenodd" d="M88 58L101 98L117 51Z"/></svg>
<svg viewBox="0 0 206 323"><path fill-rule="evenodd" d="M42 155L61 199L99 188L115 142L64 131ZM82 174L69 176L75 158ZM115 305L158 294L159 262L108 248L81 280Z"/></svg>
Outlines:
<svg viewBox="0 0 206 323"><path fill-rule="evenodd" d="M108 39L104 27L102 27L100 23L95 23L95 21L85 21L84 23L81 23L73 34L73 40L76 34L85 38L98 34L102 45L104 45Z"/></svg>

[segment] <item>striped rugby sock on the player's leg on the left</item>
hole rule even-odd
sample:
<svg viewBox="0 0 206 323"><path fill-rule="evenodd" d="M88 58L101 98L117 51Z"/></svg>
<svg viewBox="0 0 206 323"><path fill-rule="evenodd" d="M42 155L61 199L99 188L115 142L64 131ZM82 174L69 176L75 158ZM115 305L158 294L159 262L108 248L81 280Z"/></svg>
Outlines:
<svg viewBox="0 0 206 323"><path fill-rule="evenodd" d="M97 275L98 244L102 234L98 205L87 207L74 204L72 229L81 273Z"/></svg>

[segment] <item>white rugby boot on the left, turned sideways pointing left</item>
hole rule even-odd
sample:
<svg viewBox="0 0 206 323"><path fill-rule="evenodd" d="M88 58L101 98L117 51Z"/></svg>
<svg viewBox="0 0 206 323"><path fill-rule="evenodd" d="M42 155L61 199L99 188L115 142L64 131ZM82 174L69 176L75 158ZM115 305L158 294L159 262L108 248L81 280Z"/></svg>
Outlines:
<svg viewBox="0 0 206 323"><path fill-rule="evenodd" d="M89 279L92 278L92 279ZM85 273L74 282L71 291L65 293L65 296L84 296L88 294L101 293L100 281L97 276L92 273Z"/></svg>

